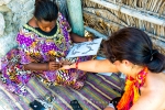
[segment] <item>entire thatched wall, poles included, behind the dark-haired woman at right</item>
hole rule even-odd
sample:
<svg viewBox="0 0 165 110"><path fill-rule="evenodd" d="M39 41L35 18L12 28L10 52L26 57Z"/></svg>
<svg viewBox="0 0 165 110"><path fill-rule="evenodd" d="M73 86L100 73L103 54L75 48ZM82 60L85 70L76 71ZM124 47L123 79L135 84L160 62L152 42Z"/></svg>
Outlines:
<svg viewBox="0 0 165 110"><path fill-rule="evenodd" d="M164 0L81 0L85 24L110 36L124 26L145 31L165 54Z"/></svg>

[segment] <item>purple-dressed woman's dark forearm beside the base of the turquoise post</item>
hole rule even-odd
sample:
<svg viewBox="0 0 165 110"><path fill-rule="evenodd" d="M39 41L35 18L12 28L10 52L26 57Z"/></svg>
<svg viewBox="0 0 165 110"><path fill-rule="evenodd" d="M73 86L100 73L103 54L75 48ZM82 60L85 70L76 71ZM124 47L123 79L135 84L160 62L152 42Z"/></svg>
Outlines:
<svg viewBox="0 0 165 110"><path fill-rule="evenodd" d="M80 42L87 42L88 41L88 38L79 36L75 33L70 33L70 38L74 43L80 43Z"/></svg>

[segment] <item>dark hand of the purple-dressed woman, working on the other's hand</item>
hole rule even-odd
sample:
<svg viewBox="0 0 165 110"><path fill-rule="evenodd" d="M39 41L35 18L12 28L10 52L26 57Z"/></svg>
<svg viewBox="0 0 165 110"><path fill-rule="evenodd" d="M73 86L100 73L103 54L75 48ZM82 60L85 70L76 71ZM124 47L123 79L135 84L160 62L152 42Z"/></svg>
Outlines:
<svg viewBox="0 0 165 110"><path fill-rule="evenodd" d="M61 66L62 66L61 63L57 63L57 62L50 62L47 69L48 69L48 70L57 70L57 69L61 68Z"/></svg>

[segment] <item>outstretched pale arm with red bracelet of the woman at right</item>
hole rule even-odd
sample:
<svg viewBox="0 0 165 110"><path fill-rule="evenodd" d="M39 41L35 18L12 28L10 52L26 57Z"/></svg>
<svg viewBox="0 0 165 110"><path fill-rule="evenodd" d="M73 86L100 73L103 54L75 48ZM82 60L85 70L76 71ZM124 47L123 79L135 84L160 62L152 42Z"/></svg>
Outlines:
<svg viewBox="0 0 165 110"><path fill-rule="evenodd" d="M92 73L117 73L119 72L112 63L108 59L102 61L88 61L88 62L80 62L69 65L64 65L62 69L69 69L76 68L85 72L92 72Z"/></svg>

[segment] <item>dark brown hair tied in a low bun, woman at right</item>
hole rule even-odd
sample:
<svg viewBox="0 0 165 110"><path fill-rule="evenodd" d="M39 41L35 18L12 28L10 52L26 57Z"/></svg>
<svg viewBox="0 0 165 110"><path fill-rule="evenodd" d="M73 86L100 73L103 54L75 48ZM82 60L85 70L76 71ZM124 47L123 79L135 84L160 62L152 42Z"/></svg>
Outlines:
<svg viewBox="0 0 165 110"><path fill-rule="evenodd" d="M165 69L165 56L153 50L148 35L139 29L119 30L105 42L105 48L111 62L128 59L135 65L147 66L153 73Z"/></svg>

